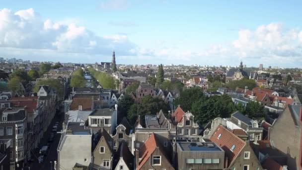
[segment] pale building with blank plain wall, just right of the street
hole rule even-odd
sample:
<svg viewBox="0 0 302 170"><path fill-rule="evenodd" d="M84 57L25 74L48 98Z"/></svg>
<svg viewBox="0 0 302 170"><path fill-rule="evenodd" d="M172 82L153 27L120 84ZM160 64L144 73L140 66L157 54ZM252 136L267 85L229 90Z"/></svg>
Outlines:
<svg viewBox="0 0 302 170"><path fill-rule="evenodd" d="M75 164L88 167L91 163L90 129L81 122L69 122L58 146L58 169L72 170Z"/></svg>

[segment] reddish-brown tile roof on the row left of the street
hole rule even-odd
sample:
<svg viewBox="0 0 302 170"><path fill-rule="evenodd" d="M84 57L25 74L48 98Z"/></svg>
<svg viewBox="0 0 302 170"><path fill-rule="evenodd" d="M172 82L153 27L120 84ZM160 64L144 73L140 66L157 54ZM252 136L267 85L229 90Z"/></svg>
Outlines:
<svg viewBox="0 0 302 170"><path fill-rule="evenodd" d="M38 97L12 97L9 100L14 107L24 107L26 106L27 113L34 113L34 110L37 109Z"/></svg>

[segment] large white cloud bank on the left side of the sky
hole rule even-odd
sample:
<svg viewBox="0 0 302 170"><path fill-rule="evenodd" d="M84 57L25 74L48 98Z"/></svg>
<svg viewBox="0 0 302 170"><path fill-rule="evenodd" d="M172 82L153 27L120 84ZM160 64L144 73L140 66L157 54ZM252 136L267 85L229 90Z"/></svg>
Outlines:
<svg viewBox="0 0 302 170"><path fill-rule="evenodd" d="M74 23L42 20L32 8L0 9L0 47L47 49L66 53L108 55L116 50L130 55L135 44L127 35L97 36Z"/></svg>

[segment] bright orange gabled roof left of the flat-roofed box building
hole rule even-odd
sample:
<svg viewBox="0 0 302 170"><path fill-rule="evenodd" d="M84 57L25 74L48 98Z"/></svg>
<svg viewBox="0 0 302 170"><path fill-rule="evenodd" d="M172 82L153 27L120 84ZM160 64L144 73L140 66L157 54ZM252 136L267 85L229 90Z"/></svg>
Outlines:
<svg viewBox="0 0 302 170"><path fill-rule="evenodd" d="M151 157L151 154L155 151L155 149L158 148L161 153L162 157L165 157L166 160L169 160L166 152L163 150L162 146L157 142L157 139L155 137L155 134L152 133L150 137L147 139L147 141L144 143L144 145L140 148L140 153L142 155L141 161L137 164L137 170L140 170L145 163L148 161L148 159Z"/></svg>

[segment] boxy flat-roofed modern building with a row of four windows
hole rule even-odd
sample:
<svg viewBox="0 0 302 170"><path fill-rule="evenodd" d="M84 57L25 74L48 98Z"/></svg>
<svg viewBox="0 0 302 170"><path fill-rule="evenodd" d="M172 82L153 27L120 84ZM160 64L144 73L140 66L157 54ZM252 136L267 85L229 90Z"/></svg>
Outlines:
<svg viewBox="0 0 302 170"><path fill-rule="evenodd" d="M213 142L178 142L177 170L223 170L225 151Z"/></svg>

